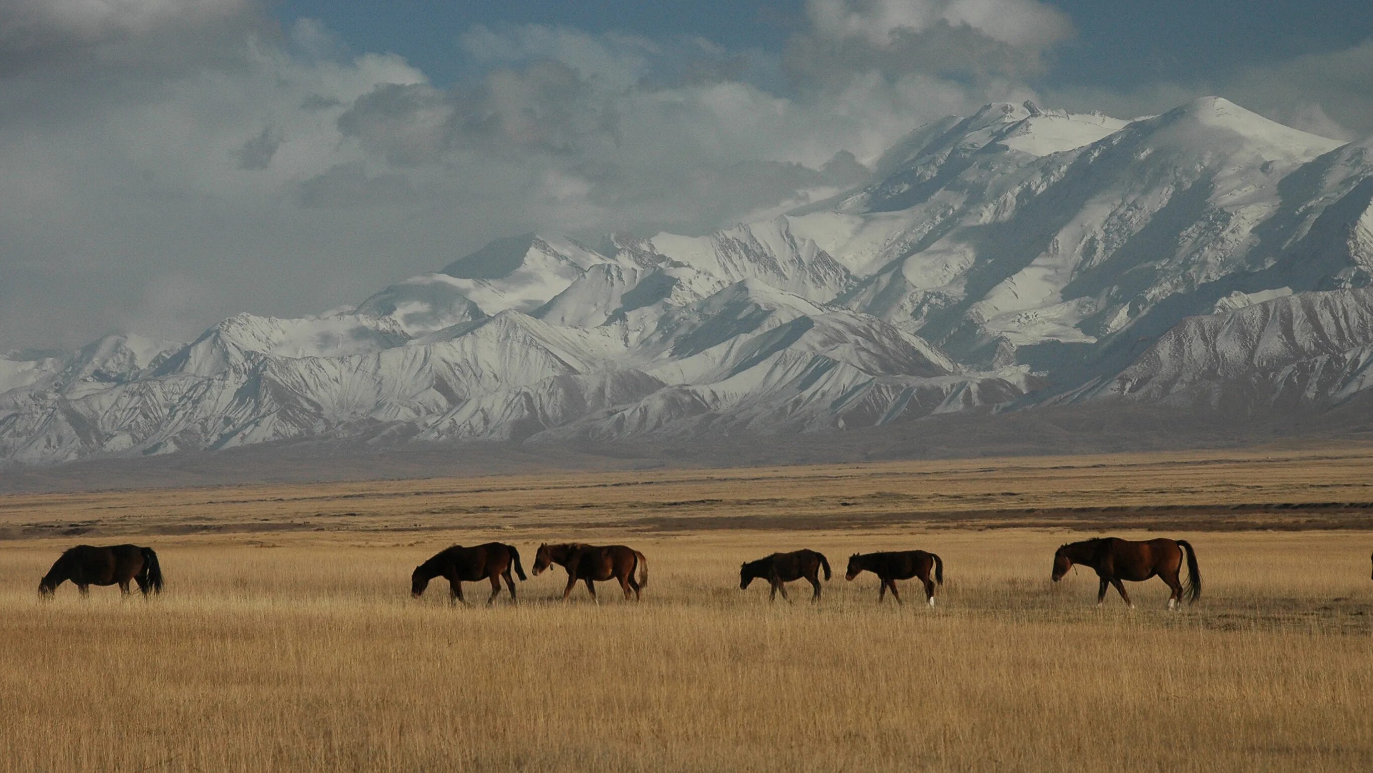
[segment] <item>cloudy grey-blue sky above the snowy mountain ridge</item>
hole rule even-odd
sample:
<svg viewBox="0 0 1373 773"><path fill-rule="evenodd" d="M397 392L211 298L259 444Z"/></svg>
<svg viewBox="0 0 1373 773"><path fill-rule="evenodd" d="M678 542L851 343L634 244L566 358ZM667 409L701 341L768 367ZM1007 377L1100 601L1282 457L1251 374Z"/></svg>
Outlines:
<svg viewBox="0 0 1373 773"><path fill-rule="evenodd" d="M1373 135L1330 0L0 0L0 351L351 306L486 242L703 233L980 104Z"/></svg>

